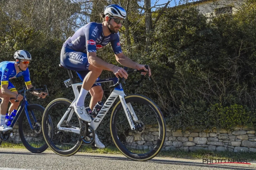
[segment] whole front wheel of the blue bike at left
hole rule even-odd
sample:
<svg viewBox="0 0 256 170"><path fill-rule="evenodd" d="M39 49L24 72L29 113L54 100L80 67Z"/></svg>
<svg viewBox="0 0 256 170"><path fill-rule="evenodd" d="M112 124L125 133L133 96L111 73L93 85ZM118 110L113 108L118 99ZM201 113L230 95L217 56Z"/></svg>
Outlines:
<svg viewBox="0 0 256 170"><path fill-rule="evenodd" d="M19 117L19 136L23 145L32 153L42 153L48 146L44 140L42 132L42 116L44 107L39 104L30 104L27 106L28 115L25 109ZM28 117L27 117L28 116ZM29 125L28 118L33 129ZM51 117L47 118L47 133L53 134L53 125ZM51 136L51 135L50 135Z"/></svg>

